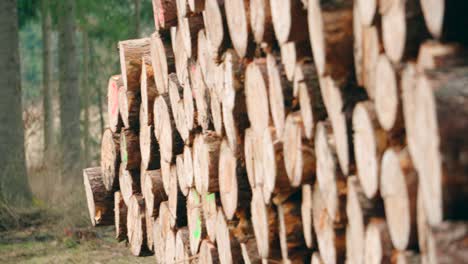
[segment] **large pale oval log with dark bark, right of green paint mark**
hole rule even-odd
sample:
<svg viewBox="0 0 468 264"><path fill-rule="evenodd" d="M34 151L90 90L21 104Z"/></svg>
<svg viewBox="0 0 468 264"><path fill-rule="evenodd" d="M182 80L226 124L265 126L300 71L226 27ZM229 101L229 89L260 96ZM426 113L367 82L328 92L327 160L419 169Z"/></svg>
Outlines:
<svg viewBox="0 0 468 264"><path fill-rule="evenodd" d="M226 140L221 143L218 168L221 204L226 218L231 220L237 208L244 208L251 199L251 192L245 167Z"/></svg>

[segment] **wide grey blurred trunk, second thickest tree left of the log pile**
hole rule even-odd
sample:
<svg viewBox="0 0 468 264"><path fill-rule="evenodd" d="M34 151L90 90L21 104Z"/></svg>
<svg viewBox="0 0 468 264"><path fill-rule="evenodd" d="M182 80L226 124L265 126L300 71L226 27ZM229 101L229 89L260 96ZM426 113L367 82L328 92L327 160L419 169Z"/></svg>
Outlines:
<svg viewBox="0 0 468 264"><path fill-rule="evenodd" d="M81 138L75 1L59 1L58 15L62 179L77 180L81 167Z"/></svg>

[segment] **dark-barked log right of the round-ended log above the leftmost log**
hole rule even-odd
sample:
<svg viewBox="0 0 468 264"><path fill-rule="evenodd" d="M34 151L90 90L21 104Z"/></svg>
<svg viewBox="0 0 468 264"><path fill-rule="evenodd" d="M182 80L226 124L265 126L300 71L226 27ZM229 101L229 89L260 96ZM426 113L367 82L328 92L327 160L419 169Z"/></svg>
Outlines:
<svg viewBox="0 0 468 264"><path fill-rule="evenodd" d="M120 156L125 169L136 170L140 168L140 139L134 130L124 129L120 133Z"/></svg>

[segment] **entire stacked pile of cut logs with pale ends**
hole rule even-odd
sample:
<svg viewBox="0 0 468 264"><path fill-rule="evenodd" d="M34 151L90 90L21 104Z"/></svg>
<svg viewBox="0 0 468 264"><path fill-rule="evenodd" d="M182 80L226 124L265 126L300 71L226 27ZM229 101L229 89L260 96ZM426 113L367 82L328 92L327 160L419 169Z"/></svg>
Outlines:
<svg viewBox="0 0 468 264"><path fill-rule="evenodd" d="M91 221L157 263L468 261L468 1L153 0Z"/></svg>

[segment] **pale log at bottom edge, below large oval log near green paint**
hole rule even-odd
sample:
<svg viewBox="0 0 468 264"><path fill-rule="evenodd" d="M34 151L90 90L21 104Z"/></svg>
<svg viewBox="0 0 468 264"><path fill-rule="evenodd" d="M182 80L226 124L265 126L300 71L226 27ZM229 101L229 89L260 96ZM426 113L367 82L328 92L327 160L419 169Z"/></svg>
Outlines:
<svg viewBox="0 0 468 264"><path fill-rule="evenodd" d="M242 263L241 245L232 234L221 209L216 218L216 245L220 263Z"/></svg>

